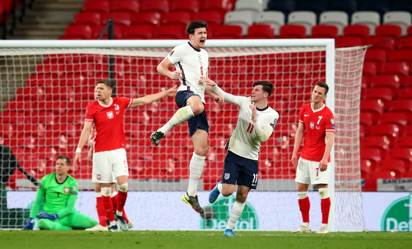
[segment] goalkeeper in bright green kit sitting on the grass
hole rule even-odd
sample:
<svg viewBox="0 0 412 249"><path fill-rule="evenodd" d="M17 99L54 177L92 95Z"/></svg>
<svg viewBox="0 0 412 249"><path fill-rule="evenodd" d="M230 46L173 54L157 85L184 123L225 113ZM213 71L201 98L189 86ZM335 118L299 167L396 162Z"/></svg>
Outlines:
<svg viewBox="0 0 412 249"><path fill-rule="evenodd" d="M57 157L56 172L42 178L24 230L33 229L36 216L39 219L37 226L41 230L86 229L97 224L94 219L75 210L79 185L67 174L69 167L69 157ZM43 212L39 213L43 201Z"/></svg>

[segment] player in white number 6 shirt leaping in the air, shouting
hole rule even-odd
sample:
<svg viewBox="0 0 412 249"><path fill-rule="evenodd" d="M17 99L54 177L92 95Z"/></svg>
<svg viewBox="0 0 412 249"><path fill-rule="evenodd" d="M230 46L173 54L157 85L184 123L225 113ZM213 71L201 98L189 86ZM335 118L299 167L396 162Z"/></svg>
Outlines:
<svg viewBox="0 0 412 249"><path fill-rule="evenodd" d="M157 72L172 80L180 80L176 94L176 104L180 108L173 117L157 131L150 135L150 141L158 146L160 139L178 124L187 121L189 134L192 137L194 152L190 160L189 186L182 200L192 206L200 214L203 209L197 199L197 183L203 171L203 165L208 151L209 125L204 110L205 92L215 102L223 104L224 99L216 95L210 86L199 82L201 77L208 77L209 57L205 46L207 38L207 22L192 21L186 26L190 41L175 47L170 54L157 66ZM174 65L175 71L169 68Z"/></svg>

